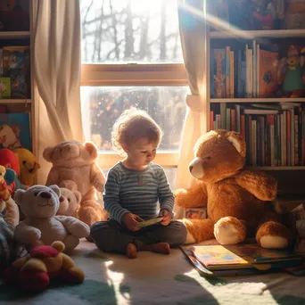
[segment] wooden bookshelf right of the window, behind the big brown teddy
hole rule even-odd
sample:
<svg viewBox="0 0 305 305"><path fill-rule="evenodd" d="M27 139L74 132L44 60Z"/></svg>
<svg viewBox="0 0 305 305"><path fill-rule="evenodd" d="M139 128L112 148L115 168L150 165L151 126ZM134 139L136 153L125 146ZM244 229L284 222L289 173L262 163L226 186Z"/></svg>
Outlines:
<svg viewBox="0 0 305 305"><path fill-rule="evenodd" d="M209 1L207 0L206 9L209 11L208 4ZM231 47L231 51L234 51L233 52L234 56L237 56L236 50L240 46L236 46L236 45L248 44L249 47L252 48L253 40L256 40L261 45L263 45L266 42L272 42L272 44L275 44L278 41L278 44L283 44L283 45L286 44L285 47L287 45L297 45L298 43L299 45L301 45L301 47L305 47L305 29L243 30L243 29L237 29L234 26L227 27L228 24L224 22L222 24L218 24L218 29L215 30L215 29L211 29L212 27L210 26L210 24L211 21L213 21L213 17L209 18L209 12L206 15L206 20L207 23L206 23L206 31L205 31L204 39L206 41L206 55L207 55L205 85L206 85L206 101L208 105L207 111L209 113L209 115L207 115L208 130L212 129L213 126L215 128L215 123L214 125L213 122L211 123L211 118L213 118L213 116L212 117L210 116L210 111L214 110L214 122L215 122L215 112L219 113L218 111L222 104L226 104L228 108L231 107L234 108L235 104L241 104L244 108L247 108L247 107L251 107L252 103L256 103L256 104L261 103L262 105L263 104L273 105L273 104L293 102L293 103L301 103L301 108L303 110L305 109L305 91L303 97L295 97L295 98L282 97L282 96L260 98L258 97L258 95L252 95L253 97L249 97L249 96L236 97L236 90L234 96L230 95L232 97L227 97L227 96L216 97L211 92L211 90L213 90L213 85L211 84L212 81L211 78L213 75L213 71L215 72L216 70L215 66L211 67L211 65L213 64L211 58L213 56L214 49L224 48L226 53L226 46L228 45ZM238 62L237 64L241 64L241 62ZM234 67L235 69L237 69L236 68L237 66ZM215 109L217 110L215 111ZM301 125L303 126L304 124L305 122L304 120L302 120ZM219 128L218 125L219 123L217 124L216 128ZM222 123L221 126L223 126ZM235 130L235 131L240 131L240 130ZM281 161L277 161L276 165L270 165L270 164L252 165L251 163L252 162L250 162L249 164L248 162L247 168L253 170L264 170L267 171L270 175L276 177L279 183L279 194L286 194L287 192L305 194L305 187L304 187L305 161L300 162L300 164L296 164L297 162L294 161L293 164L289 164L287 161L287 164L285 165L280 164Z"/></svg>

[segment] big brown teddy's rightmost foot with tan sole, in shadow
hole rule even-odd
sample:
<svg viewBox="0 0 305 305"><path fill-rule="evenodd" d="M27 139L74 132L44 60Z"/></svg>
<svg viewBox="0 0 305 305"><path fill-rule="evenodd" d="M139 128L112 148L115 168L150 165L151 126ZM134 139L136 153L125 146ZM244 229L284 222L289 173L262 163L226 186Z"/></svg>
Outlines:
<svg viewBox="0 0 305 305"><path fill-rule="evenodd" d="M293 236L287 227L276 221L268 221L260 226L256 241L262 248L284 249L292 243Z"/></svg>

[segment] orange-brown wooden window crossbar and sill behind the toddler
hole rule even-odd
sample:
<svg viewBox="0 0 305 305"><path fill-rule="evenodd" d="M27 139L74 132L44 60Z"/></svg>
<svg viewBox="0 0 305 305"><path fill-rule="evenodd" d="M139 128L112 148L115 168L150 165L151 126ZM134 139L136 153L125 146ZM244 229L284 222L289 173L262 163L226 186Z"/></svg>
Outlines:
<svg viewBox="0 0 305 305"><path fill-rule="evenodd" d="M83 63L81 87L188 86L184 63ZM176 168L178 152L158 152L155 162L164 168ZM99 152L97 164L109 169L122 160L116 152Z"/></svg>

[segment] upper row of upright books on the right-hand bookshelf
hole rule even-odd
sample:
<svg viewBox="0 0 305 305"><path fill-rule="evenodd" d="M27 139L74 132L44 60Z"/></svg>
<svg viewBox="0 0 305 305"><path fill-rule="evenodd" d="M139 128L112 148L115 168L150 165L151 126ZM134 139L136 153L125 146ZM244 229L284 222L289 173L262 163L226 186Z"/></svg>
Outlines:
<svg viewBox="0 0 305 305"><path fill-rule="evenodd" d="M280 50L278 45L261 45L257 40L253 40L251 45L244 44L243 49L233 50L231 46L211 49L210 96L212 98L290 97L293 91L288 91L284 86L286 57L279 58L282 51L285 51L284 54L287 52L288 55L301 56L301 46L290 45L288 50ZM300 74L299 81L302 84L303 62L300 62L295 64L295 73ZM298 92L299 97L304 95L304 88L302 86L302 92Z"/></svg>

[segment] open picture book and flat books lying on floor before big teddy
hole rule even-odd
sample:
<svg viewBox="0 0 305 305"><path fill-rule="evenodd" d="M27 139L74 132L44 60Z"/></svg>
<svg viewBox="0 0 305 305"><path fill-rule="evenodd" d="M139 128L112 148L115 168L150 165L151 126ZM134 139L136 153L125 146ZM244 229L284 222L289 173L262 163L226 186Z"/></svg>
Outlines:
<svg viewBox="0 0 305 305"><path fill-rule="evenodd" d="M202 276L260 274L305 266L293 250L264 249L258 243L182 246L181 250Z"/></svg>

